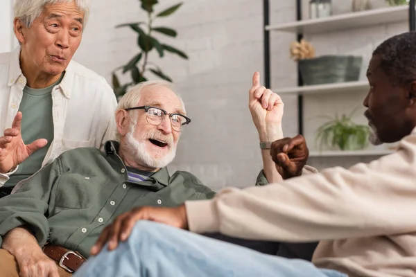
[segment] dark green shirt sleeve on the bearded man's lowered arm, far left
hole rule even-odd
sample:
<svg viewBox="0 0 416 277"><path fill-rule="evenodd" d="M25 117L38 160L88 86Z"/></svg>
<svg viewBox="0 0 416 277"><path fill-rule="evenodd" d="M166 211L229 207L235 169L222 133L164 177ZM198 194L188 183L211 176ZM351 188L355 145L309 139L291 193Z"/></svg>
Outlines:
<svg viewBox="0 0 416 277"><path fill-rule="evenodd" d="M60 173L60 159L45 166L35 175L21 181L16 193L0 199L0 248L2 236L19 226L26 226L43 245L49 236L45 216L49 207L51 188Z"/></svg>

